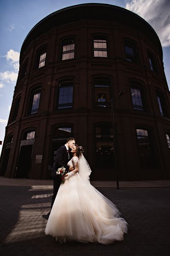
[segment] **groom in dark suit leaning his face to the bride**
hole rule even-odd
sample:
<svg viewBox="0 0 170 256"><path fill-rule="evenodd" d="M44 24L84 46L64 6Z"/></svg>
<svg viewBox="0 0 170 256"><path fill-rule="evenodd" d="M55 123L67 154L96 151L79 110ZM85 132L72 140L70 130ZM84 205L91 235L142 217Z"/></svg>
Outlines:
<svg viewBox="0 0 170 256"><path fill-rule="evenodd" d="M62 166L65 167L66 171L73 171L73 167L67 166L68 161L70 160L70 154L69 151L71 151L71 148L75 145L74 138L68 138L65 145L61 146L57 149L56 152L56 160L54 163L54 170L53 170L53 178L54 178L54 190L53 190L53 197L51 200L51 209L53 207L57 192L59 190L59 186L61 184L61 178L57 176L56 172L58 168L61 168Z"/></svg>

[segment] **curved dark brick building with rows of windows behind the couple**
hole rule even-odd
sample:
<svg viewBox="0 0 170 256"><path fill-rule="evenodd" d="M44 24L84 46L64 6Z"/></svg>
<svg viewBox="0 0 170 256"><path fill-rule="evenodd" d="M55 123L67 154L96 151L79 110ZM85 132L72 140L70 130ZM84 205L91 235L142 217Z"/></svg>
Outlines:
<svg viewBox="0 0 170 256"><path fill-rule="evenodd" d="M115 180L112 98L119 179L170 178L170 93L153 28L107 4L45 17L21 48L0 175L50 178L57 148L74 137L91 179Z"/></svg>

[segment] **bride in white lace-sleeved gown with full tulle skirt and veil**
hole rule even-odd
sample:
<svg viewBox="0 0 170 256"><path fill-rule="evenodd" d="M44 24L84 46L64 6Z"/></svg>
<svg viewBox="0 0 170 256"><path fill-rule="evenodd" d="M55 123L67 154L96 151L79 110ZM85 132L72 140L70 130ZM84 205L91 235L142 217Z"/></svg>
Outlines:
<svg viewBox="0 0 170 256"><path fill-rule="evenodd" d="M65 175L65 183L59 187L45 234L59 242L111 244L123 240L127 222L119 217L116 206L91 185L91 169L82 147L75 145L71 152L68 166L74 170Z"/></svg>

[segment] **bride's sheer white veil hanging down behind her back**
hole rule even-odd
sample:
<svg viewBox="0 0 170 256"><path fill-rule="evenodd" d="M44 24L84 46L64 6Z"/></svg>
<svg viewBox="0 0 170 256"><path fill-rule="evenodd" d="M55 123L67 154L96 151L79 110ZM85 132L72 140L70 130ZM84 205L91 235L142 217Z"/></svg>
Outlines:
<svg viewBox="0 0 170 256"><path fill-rule="evenodd" d="M79 176L83 183L90 182L91 168L83 156L83 154L79 157Z"/></svg>

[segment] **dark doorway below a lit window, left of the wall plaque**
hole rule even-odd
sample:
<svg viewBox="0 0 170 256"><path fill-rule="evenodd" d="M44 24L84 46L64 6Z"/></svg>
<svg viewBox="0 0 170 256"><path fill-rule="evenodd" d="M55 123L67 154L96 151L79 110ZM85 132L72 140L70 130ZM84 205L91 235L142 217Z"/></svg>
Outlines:
<svg viewBox="0 0 170 256"><path fill-rule="evenodd" d="M21 146L16 178L28 178L31 167L32 146Z"/></svg>

